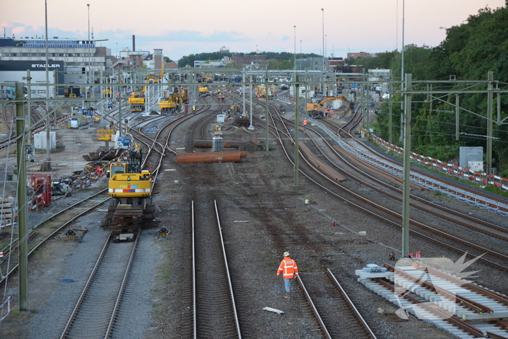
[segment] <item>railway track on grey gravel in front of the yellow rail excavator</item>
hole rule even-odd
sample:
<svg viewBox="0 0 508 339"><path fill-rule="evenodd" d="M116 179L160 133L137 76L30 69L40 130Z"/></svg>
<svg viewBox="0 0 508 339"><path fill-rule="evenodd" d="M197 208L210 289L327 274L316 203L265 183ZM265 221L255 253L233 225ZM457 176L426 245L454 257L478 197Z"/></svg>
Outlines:
<svg viewBox="0 0 508 339"><path fill-rule="evenodd" d="M108 236L60 339L111 336L139 238L110 245Z"/></svg>

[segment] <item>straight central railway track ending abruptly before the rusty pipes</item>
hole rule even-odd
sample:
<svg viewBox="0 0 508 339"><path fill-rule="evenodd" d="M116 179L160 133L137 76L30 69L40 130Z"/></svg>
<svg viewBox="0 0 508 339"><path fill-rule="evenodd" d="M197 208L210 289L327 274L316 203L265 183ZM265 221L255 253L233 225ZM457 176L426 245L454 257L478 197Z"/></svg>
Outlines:
<svg viewBox="0 0 508 339"><path fill-rule="evenodd" d="M217 203L192 202L193 336L241 338Z"/></svg>

